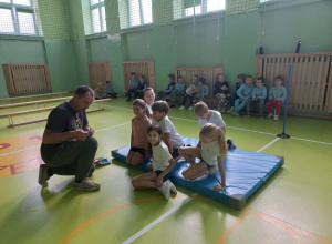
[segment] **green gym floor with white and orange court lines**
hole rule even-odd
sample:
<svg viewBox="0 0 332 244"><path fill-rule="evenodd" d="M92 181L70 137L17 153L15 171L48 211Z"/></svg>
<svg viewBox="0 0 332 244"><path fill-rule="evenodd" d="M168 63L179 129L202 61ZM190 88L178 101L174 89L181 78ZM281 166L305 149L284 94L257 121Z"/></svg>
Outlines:
<svg viewBox="0 0 332 244"><path fill-rule="evenodd" d="M100 142L96 156L110 160L111 150L129 144L134 114L124 98L106 104L87 119ZM178 133L198 138L191 111L176 108L168 115ZM97 192L77 192L72 176L59 175L42 189L37 180L45 122L8 129L0 119L0 243L332 243L331 121L289 116L291 139L276 140L282 119L222 116L239 149L284 156L241 211L180 186L168 202L158 191L134 191L131 179L142 172L116 160L92 176L102 184Z"/></svg>

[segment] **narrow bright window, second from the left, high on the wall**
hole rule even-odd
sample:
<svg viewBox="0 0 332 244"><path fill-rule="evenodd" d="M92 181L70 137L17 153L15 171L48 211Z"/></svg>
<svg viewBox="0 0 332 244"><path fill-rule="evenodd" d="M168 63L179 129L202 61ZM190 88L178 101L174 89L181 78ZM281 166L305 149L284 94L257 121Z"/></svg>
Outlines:
<svg viewBox="0 0 332 244"><path fill-rule="evenodd" d="M107 27L104 0L90 0L90 9L93 33L105 32Z"/></svg>

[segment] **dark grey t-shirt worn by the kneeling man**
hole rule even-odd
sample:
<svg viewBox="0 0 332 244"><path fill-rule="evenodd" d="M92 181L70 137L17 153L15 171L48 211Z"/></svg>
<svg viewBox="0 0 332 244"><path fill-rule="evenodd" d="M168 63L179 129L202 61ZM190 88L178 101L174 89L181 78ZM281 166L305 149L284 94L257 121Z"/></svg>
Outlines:
<svg viewBox="0 0 332 244"><path fill-rule="evenodd" d="M46 129L52 132L68 132L75 131L77 129L83 129L87 124L86 113L74 111L68 101L61 103L56 108L54 108L49 118ZM41 152L44 154L53 154L55 153L58 144L41 144Z"/></svg>

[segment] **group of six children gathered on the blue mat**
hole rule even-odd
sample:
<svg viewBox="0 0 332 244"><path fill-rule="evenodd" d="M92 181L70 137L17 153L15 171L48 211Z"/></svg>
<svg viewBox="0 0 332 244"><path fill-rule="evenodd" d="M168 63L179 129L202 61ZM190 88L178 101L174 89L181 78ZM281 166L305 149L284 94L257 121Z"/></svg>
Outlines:
<svg viewBox="0 0 332 244"><path fill-rule="evenodd" d="M143 163L152 156L149 172L135 176L132 184L135 189L157 189L166 200L176 187L168 180L169 173L180 157L185 157L190 166L183 172L183 176L193 180L204 174L215 174L218 163L221 183L215 185L215 191L226 187L222 159L227 150L235 149L232 141L225 140L226 124L221 114L209 110L204 102L195 104L194 113L199 118L199 143L196 146L187 145L177 133L174 124L167 116L169 111L166 101L156 101L152 88L144 90L144 100L133 102L135 118L132 120L131 150L126 162L131 165ZM152 112L152 113L151 113ZM195 163L200 159L199 163Z"/></svg>

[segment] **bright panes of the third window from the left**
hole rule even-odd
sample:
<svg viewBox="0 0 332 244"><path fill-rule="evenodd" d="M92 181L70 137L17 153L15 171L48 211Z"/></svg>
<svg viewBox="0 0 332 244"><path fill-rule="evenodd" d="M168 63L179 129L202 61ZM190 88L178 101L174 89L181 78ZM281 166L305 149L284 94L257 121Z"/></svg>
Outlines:
<svg viewBox="0 0 332 244"><path fill-rule="evenodd" d="M152 23L152 0L128 0L129 26Z"/></svg>

